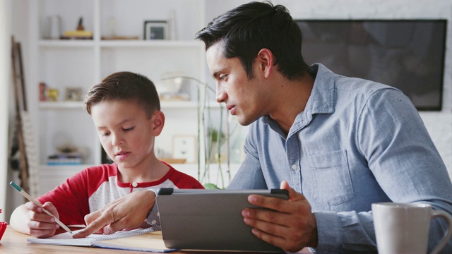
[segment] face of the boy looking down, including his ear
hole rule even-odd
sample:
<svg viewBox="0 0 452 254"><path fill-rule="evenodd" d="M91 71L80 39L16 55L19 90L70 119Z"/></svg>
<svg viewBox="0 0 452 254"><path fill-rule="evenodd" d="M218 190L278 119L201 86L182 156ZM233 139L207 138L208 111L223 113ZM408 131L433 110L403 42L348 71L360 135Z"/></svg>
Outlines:
<svg viewBox="0 0 452 254"><path fill-rule="evenodd" d="M134 102L111 100L91 108L100 143L119 169L149 169L154 155L154 137L162 131L161 111L148 114Z"/></svg>

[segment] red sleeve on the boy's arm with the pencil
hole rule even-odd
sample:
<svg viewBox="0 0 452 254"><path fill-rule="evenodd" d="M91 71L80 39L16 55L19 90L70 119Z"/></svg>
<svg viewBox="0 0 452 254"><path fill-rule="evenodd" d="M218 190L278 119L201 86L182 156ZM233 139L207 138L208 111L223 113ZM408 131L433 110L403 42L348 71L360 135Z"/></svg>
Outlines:
<svg viewBox="0 0 452 254"><path fill-rule="evenodd" d="M42 203L52 202L57 208L59 219L64 224L85 224L84 217L91 212L88 198L102 182L107 181L108 171L113 170L112 167L104 164L83 169L37 200Z"/></svg>

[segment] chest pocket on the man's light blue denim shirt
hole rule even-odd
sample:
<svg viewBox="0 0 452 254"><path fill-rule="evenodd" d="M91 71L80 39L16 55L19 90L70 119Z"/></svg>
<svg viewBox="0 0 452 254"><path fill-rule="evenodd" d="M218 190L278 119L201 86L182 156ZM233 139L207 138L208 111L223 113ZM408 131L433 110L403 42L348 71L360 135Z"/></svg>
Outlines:
<svg viewBox="0 0 452 254"><path fill-rule="evenodd" d="M314 174L314 200L326 205L340 205L355 198L347 151L309 155Z"/></svg>

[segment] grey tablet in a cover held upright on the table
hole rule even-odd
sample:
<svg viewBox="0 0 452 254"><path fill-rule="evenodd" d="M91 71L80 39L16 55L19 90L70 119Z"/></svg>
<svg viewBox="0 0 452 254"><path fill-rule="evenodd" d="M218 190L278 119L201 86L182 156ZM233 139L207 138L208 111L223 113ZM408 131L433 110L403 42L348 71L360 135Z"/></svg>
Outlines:
<svg viewBox="0 0 452 254"><path fill-rule="evenodd" d="M288 199L286 190L192 190L160 188L157 207L167 248L282 252L251 233L242 210L250 194ZM264 209L264 208L261 208Z"/></svg>

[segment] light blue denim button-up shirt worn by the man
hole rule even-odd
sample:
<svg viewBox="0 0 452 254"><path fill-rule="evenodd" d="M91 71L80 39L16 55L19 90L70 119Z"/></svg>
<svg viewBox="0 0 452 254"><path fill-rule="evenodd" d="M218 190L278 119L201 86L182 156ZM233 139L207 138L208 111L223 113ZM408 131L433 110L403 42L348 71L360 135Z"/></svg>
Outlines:
<svg viewBox="0 0 452 254"><path fill-rule="evenodd" d="M396 88L311 66L305 110L286 135L270 116L251 124L230 189L287 180L316 216L316 253L376 252L373 202L427 202L452 214L444 162L410 99ZM429 250L446 226L435 220ZM452 244L444 250L452 253Z"/></svg>

